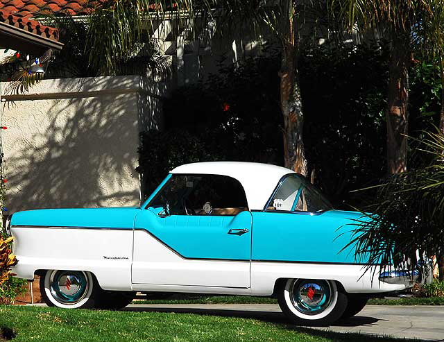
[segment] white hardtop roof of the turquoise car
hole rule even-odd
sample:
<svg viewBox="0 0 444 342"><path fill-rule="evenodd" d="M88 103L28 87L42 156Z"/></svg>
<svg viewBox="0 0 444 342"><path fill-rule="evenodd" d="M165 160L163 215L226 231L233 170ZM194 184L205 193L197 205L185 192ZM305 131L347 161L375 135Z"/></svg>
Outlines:
<svg viewBox="0 0 444 342"><path fill-rule="evenodd" d="M263 210L282 176L294 173L271 164L250 162L198 162L176 167L170 173L229 176L244 187L250 210Z"/></svg>

